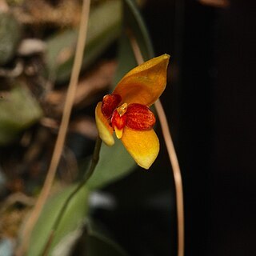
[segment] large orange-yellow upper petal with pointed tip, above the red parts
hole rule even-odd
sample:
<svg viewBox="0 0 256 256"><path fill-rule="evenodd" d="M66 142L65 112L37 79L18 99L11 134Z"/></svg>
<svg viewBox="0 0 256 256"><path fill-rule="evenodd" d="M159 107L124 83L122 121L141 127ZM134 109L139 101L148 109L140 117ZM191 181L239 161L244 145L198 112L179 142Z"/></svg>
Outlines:
<svg viewBox="0 0 256 256"><path fill-rule="evenodd" d="M166 88L166 70L170 55L152 58L130 70L118 83L113 94L119 94L122 102L152 105Z"/></svg>

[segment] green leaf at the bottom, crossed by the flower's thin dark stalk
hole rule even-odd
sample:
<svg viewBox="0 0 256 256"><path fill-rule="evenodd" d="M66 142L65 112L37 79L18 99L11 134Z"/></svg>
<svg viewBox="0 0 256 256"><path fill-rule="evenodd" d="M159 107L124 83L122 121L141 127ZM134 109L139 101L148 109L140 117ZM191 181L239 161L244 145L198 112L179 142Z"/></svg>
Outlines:
<svg viewBox="0 0 256 256"><path fill-rule="evenodd" d="M59 194L54 195L48 202L46 202L46 206L44 206L42 214L34 227L27 256L37 256L42 254L42 250L46 246L54 222L58 217L60 210L62 210L62 206L66 202L66 199L74 191L74 188L75 186L70 186ZM54 234L50 252L63 238L67 238L68 235L74 234L81 229L81 226L85 222L86 214L88 213L88 195L89 193L86 186L82 186L82 188L74 195L62 216L56 233Z"/></svg>

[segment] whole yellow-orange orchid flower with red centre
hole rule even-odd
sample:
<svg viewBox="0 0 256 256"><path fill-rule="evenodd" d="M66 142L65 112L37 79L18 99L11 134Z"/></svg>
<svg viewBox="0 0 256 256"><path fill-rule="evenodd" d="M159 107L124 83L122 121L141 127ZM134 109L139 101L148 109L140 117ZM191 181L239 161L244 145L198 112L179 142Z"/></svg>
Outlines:
<svg viewBox="0 0 256 256"><path fill-rule="evenodd" d="M150 168L159 152L158 136L153 130L155 117L149 106L166 88L169 58L163 54L130 70L95 110L102 141L114 145L115 132L135 162L145 169Z"/></svg>

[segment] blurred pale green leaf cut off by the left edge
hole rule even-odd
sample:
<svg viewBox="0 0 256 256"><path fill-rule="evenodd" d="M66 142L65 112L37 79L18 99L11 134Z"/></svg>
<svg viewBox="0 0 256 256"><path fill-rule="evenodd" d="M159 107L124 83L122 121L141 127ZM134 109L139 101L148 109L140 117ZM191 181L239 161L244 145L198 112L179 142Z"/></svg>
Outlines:
<svg viewBox="0 0 256 256"><path fill-rule="evenodd" d="M19 86L0 98L0 145L14 140L18 133L37 122L42 110L29 90Z"/></svg>

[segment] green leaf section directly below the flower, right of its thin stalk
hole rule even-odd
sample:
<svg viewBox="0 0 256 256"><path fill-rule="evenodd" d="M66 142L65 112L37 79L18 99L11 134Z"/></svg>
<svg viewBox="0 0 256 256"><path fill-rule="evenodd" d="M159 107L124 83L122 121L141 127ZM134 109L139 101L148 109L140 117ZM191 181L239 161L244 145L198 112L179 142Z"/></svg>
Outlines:
<svg viewBox="0 0 256 256"><path fill-rule="evenodd" d="M106 186L110 182L130 174L135 166L134 159L131 158L118 138L115 138L114 146L106 146L102 143L98 165L87 182L87 186L90 189Z"/></svg>

